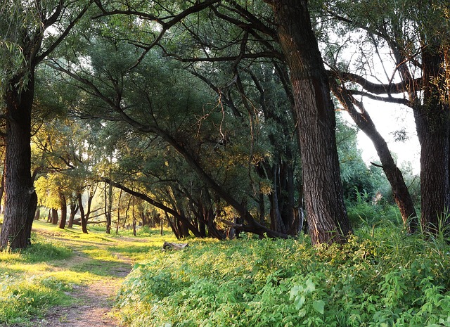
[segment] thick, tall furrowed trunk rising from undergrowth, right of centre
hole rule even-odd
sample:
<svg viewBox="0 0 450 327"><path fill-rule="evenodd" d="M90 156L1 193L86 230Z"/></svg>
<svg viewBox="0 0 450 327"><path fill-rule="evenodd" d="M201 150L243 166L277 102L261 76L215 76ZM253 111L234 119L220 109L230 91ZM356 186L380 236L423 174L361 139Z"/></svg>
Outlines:
<svg viewBox="0 0 450 327"><path fill-rule="evenodd" d="M267 2L274 8L279 41L290 68L311 243L345 243L352 229L342 195L335 112L307 1Z"/></svg>

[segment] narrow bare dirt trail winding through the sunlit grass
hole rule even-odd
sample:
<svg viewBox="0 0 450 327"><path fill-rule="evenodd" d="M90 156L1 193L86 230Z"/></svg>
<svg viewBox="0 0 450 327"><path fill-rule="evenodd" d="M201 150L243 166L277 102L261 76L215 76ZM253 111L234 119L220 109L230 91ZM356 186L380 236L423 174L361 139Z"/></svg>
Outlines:
<svg viewBox="0 0 450 327"><path fill-rule="evenodd" d="M49 236L58 240L58 236ZM60 240L59 240L60 241ZM134 240L135 241L135 240ZM114 246L117 242L98 242L99 248ZM113 316L114 299L120 284L129 274L132 260L118 253L114 253L117 262L114 267L108 268L105 276L99 276L95 281L83 286L75 286L66 295L75 299L70 307L54 307L42 319L35 321L36 327L118 327L120 322ZM74 248L72 257L65 259L63 267L55 269L68 269L83 265L89 271L89 265L101 264L88 255Z"/></svg>

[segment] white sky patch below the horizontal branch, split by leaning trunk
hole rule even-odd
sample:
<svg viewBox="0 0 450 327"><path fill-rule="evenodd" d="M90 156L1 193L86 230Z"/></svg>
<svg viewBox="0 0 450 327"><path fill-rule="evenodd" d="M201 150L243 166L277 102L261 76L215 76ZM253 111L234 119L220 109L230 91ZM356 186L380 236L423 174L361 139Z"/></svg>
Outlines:
<svg viewBox="0 0 450 327"><path fill-rule="evenodd" d="M394 160L397 158L397 166L401 168L402 165L410 162L413 173L419 174L420 146L411 108L392 103L371 101L367 98L364 99L364 107L375 123L378 132L387 142ZM344 112L343 117L352 122L352 118L347 113ZM406 141L395 141L394 132L401 129L406 132L407 139ZM361 131L358 133L358 146L362 150L362 158L366 163L369 164L371 161L380 163L372 141Z"/></svg>

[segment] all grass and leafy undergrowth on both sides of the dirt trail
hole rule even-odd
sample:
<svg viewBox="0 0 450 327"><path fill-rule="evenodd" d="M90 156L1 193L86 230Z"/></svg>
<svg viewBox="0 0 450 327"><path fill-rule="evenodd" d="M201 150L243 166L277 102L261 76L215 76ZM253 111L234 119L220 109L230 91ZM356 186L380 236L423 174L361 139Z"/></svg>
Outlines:
<svg viewBox="0 0 450 327"><path fill-rule="evenodd" d="M169 233L115 236L96 227L85 235L35 222L32 247L0 252L0 325L33 326L47 309L74 302L72 289L108 280L126 259L134 269L117 297L125 326L450 327L444 234L408 235L395 217L368 220L346 245L243 234L190 238L182 251L161 250L175 241Z"/></svg>

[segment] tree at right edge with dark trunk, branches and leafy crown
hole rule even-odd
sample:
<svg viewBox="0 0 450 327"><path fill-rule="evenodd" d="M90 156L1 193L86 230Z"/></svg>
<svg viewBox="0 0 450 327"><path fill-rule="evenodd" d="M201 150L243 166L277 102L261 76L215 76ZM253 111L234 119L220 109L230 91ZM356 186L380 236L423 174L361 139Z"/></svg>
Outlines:
<svg viewBox="0 0 450 327"><path fill-rule="evenodd" d="M332 65L342 82L359 86L349 93L413 110L421 151L421 222L425 231L436 233L439 224L449 224L445 219L450 205L449 3L398 0L364 6L346 1L323 4L328 18L338 22L336 30L361 33L359 44L362 39L364 46L370 46L370 52L359 57L359 70L348 71L345 68L351 66L342 62ZM338 43L345 41L340 39ZM380 55L384 49L390 51L392 72L387 72L389 57ZM375 62L385 71L384 83L369 80ZM377 77L383 78L380 74ZM439 222L441 217L444 219Z"/></svg>

